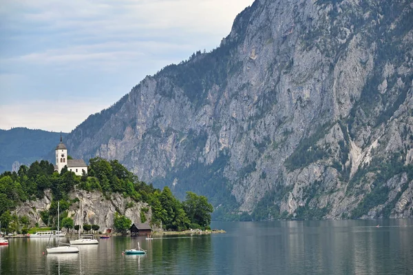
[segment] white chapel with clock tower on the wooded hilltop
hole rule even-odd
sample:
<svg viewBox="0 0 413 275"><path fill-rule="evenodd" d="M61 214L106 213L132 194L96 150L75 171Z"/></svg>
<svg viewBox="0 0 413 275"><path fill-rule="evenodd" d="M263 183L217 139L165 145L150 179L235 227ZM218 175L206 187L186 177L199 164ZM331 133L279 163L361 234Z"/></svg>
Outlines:
<svg viewBox="0 0 413 275"><path fill-rule="evenodd" d="M56 165L54 171L61 172L63 167L67 165L67 171L74 172L77 176L82 176L83 171L87 174L87 165L83 159L67 159L66 145L61 142L56 146Z"/></svg>

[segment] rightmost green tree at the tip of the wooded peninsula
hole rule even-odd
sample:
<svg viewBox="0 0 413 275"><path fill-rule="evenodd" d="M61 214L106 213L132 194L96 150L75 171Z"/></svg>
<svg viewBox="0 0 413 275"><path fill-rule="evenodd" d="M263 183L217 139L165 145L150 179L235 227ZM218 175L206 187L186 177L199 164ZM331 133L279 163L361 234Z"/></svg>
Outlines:
<svg viewBox="0 0 413 275"><path fill-rule="evenodd" d="M191 223L200 225L202 228L211 224L213 206L208 202L206 196L198 196L193 192L187 192L187 200L183 204Z"/></svg>

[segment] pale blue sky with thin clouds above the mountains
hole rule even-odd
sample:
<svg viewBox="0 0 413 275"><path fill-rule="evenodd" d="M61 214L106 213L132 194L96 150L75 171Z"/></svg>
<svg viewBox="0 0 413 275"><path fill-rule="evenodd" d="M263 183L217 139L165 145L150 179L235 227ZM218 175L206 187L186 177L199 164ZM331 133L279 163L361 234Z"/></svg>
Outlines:
<svg viewBox="0 0 413 275"><path fill-rule="evenodd" d="M0 129L70 132L213 50L253 0L0 0Z"/></svg>

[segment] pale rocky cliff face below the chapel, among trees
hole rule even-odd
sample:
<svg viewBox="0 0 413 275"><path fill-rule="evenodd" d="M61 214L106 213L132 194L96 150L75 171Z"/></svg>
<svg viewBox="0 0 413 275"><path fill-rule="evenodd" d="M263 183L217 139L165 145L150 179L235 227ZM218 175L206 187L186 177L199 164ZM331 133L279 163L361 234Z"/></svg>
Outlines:
<svg viewBox="0 0 413 275"><path fill-rule="evenodd" d="M118 212L130 218L132 223L141 223L140 210L149 208L145 214L147 222L151 220L151 210L147 203L136 203L130 198L124 198L118 193L112 194L110 199L105 199L100 192L86 192L76 190L69 194L70 199L78 198L82 202L82 211L79 203L72 203L67 216L72 218L75 225L99 225L99 231L105 233L107 228L114 228L114 214ZM18 216L28 216L32 226L34 223L42 224L41 212L48 211L52 204L52 194L45 192L45 196L38 201L26 201L14 211ZM158 228L155 227L155 230Z"/></svg>

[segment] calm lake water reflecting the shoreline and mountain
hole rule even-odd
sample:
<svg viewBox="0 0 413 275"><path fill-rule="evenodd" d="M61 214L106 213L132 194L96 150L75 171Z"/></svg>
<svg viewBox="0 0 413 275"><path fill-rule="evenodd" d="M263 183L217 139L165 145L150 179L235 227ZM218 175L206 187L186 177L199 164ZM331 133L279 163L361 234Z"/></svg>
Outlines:
<svg viewBox="0 0 413 275"><path fill-rule="evenodd" d="M227 233L112 237L67 255L43 255L47 239L10 239L0 274L413 274L412 219L211 227ZM138 242L146 255L122 255Z"/></svg>

